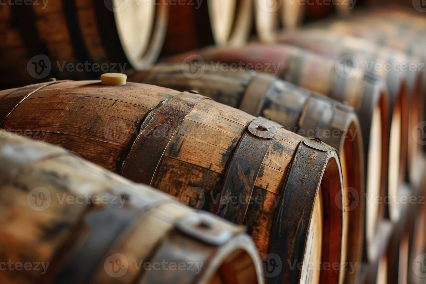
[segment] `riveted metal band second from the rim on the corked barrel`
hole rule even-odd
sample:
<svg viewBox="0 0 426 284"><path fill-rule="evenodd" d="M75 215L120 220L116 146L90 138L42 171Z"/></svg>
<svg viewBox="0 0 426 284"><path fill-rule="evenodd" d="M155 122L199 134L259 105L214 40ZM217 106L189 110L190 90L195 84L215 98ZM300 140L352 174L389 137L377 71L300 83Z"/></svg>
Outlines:
<svg viewBox="0 0 426 284"><path fill-rule="evenodd" d="M256 178L273 138L282 125L263 117L254 119L242 136L222 188L216 214L233 223L242 224L247 212ZM229 201L241 200L230 206Z"/></svg>

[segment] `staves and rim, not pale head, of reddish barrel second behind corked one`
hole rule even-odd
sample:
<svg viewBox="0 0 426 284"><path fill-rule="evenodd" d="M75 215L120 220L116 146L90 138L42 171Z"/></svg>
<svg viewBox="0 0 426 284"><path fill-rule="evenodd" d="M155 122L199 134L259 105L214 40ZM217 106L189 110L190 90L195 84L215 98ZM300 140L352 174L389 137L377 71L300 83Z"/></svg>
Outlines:
<svg viewBox="0 0 426 284"><path fill-rule="evenodd" d="M389 141L389 96L380 79L365 76L363 72L358 72L354 78L341 80L335 71L334 62L316 55L311 52L304 51L295 46L290 45L263 45L259 43L250 43L244 48L205 48L198 51L184 53L172 58L168 58L164 63L181 63L193 64L195 59L201 60L207 67L208 64L217 62L223 64L235 64L242 62L243 64L261 64L263 71L271 72L285 81L301 86L305 89L330 96L337 101L348 101L355 110L357 110L360 119L360 125L363 134L363 148L369 149L371 124L373 111L375 107L380 108L380 121L382 125L381 141L382 141L382 165L387 165ZM270 64L277 64L276 70L273 70ZM193 65L191 65L193 66ZM256 67L257 68L257 67ZM274 67L275 68L275 67ZM257 68L256 70L259 70ZM301 80L307 77L304 74L310 74L314 78L310 80ZM331 75L330 75L331 74ZM365 78L364 78L365 77ZM340 81L339 81L340 78ZM324 84L325 82L325 84ZM342 87L343 86L343 87ZM374 134L374 133L373 133ZM364 160L368 161L368 152L364 151ZM366 177L368 171L366 171ZM384 197L386 194L386 170L382 168L380 177L380 190L378 194ZM382 218L385 214L385 207L381 203L377 209L377 215ZM374 226L375 235L380 234L380 228ZM372 249L376 238L371 238L370 249L365 249L364 259L375 260L378 255Z"/></svg>

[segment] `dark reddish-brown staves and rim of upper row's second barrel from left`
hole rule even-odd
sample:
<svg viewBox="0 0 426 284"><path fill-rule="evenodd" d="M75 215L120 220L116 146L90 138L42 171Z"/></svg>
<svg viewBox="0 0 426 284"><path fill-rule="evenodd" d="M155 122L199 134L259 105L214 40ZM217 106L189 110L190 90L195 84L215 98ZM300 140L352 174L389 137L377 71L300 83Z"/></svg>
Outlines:
<svg viewBox="0 0 426 284"><path fill-rule="evenodd" d="M251 29L253 3L250 0L236 0L233 27L228 38L220 40L215 36L210 2L202 1L200 7L178 4L170 9L167 35L161 55L174 55L215 43L219 46L242 46L247 42Z"/></svg>

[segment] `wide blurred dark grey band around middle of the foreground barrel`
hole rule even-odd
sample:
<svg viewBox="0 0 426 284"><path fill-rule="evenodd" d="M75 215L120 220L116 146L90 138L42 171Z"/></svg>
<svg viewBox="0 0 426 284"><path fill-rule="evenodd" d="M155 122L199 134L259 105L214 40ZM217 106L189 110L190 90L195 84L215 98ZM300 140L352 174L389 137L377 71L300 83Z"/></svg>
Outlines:
<svg viewBox="0 0 426 284"><path fill-rule="evenodd" d="M142 208L120 208L118 204L108 203L103 210L85 216L84 223L89 228L87 235L63 262L53 283L91 283L102 260L116 241L127 234L143 214L166 202L174 201L158 200Z"/></svg>

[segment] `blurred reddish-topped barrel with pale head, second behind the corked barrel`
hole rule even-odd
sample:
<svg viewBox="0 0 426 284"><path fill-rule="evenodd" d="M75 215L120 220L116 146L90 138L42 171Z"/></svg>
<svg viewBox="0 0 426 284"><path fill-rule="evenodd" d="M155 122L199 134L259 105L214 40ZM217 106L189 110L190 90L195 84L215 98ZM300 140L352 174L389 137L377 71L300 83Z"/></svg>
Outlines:
<svg viewBox="0 0 426 284"><path fill-rule="evenodd" d="M243 64L256 71L270 72L305 89L330 96L338 101L347 101L357 111L363 136L364 161L366 161L366 194L368 198L382 198L386 194L386 165L389 142L389 98L383 82L366 76L362 70L353 78L337 75L339 66L325 57L315 55L290 45L263 45L250 43L244 48L208 48L168 59L168 63L194 66L194 62L213 64ZM249 65L251 64L251 65ZM203 66L203 64L201 64ZM226 67L225 66L225 67ZM199 69L203 70L203 68ZM195 71L195 69L193 70ZM200 72L201 72L200 71ZM343 71L342 71L343 72ZM200 73L194 73L198 76ZM382 166L383 165L383 166ZM375 236L379 234L377 222L384 214L383 203L366 207L371 216L366 226L366 255L375 259ZM375 217L374 217L375 216Z"/></svg>

